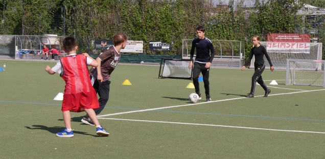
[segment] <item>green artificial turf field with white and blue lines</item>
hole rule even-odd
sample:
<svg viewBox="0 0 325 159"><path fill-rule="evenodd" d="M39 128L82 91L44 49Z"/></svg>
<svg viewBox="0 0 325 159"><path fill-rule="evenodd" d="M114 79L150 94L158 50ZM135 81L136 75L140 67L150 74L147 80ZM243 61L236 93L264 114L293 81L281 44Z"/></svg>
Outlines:
<svg viewBox="0 0 325 159"><path fill-rule="evenodd" d="M325 89L285 85L286 72L265 70L272 90L250 91L253 69L212 68L212 102L192 104L192 82L158 79L157 65L119 64L98 116L109 137L72 112L74 138L64 128L59 75L51 61L0 60L0 158L325 158ZM132 85L122 85L128 79ZM269 85L276 80L278 85Z"/></svg>

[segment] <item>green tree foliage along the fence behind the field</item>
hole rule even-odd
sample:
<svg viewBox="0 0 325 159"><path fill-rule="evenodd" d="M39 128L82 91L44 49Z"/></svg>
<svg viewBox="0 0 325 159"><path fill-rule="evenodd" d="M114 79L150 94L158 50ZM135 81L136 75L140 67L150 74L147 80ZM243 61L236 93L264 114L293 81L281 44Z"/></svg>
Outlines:
<svg viewBox="0 0 325 159"><path fill-rule="evenodd" d="M158 54L179 55L181 39L195 38L195 28L204 25L208 38L241 40L249 53L251 36L266 40L267 33L305 33L301 28L312 26L296 15L298 9L325 7L325 0L252 1L247 8L244 0L217 5L206 0L2 0L0 34L74 36L81 51L91 52L93 40L124 32L131 40L143 40L147 54L157 54L149 51L149 41L166 41L173 42L173 51ZM319 42L324 41L323 26Z"/></svg>

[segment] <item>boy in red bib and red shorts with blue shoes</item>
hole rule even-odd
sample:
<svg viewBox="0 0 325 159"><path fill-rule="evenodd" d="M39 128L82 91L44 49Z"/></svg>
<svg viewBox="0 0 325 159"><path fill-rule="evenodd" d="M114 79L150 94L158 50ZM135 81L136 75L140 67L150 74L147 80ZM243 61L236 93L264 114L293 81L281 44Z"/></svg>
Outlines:
<svg viewBox="0 0 325 159"><path fill-rule="evenodd" d="M87 67L87 65L97 67L98 63L87 53L76 54L78 46L74 37L64 38L63 48L68 56L61 58L52 69L49 65L45 67L45 71L49 74L58 73L65 81L61 109L65 128L61 132L56 133L56 135L57 137L74 137L71 128L70 111L86 111L89 118L94 121L96 133L107 137L109 132L99 124L94 111L95 108L99 108L99 103L97 94L91 85Z"/></svg>

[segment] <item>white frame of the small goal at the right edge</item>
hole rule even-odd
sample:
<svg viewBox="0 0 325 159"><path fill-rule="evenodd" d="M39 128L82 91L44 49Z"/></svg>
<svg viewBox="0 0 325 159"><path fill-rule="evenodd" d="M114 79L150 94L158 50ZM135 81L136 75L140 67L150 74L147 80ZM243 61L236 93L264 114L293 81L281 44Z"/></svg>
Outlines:
<svg viewBox="0 0 325 159"><path fill-rule="evenodd" d="M315 69L313 70L308 70L308 71L313 71L313 72L319 72L322 73L322 85L321 84L300 84L296 83L295 81L295 71L293 72L293 75L289 74L289 69L290 69L290 62L319 62L319 65L317 64ZM310 86L323 86L325 87L325 73L324 73L324 63L325 60L310 60L310 59L287 59L287 67L286 67L286 85L310 85ZM295 70L295 67L293 68ZM289 79L292 76L292 79ZM290 82L290 81L293 82Z"/></svg>

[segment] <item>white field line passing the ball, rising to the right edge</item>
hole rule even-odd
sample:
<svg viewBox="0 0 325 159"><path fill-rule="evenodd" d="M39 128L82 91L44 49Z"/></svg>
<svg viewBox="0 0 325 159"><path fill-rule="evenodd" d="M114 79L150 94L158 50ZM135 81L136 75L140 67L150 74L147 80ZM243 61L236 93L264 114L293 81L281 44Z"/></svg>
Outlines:
<svg viewBox="0 0 325 159"><path fill-rule="evenodd" d="M315 92L315 91L320 91L320 90L325 90L325 89L304 90L304 91L301 91L301 92L273 94L273 95L269 95L269 96L278 96L278 95L289 95L289 94L296 94L296 93ZM254 97L263 97L263 96L254 96ZM193 103L193 104L183 104L183 105L166 106L166 107L160 107L160 108L151 108L151 109L142 109L142 110L133 110L133 111L117 112L117 113L110 113L110 114L107 114L107 115L102 115L102 116L97 116L97 117L98 118L100 118L100 117L108 117L108 116L123 115L123 114L126 114L126 113L133 113L133 112L152 111L152 110L176 108L176 107L190 106L190 105L199 105L199 104L208 104L208 103L223 102L223 101L230 101L230 100L237 100L237 99L245 99L245 98L246 97L230 98L230 99L222 99L222 100L211 101L211 102L201 102L201 103Z"/></svg>

